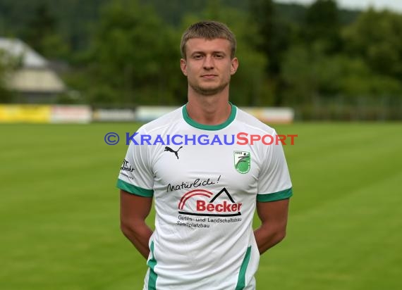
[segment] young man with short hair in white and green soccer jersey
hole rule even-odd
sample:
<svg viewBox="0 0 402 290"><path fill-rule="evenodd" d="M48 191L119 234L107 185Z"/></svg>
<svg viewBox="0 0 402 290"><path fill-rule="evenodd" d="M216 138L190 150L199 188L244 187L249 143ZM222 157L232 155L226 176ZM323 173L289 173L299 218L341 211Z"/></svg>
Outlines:
<svg viewBox="0 0 402 290"><path fill-rule="evenodd" d="M255 289L260 254L285 237L292 184L281 143L236 140L276 132L229 103L235 52L226 25L191 25L181 41L188 103L140 127L128 147L121 229L147 258L144 290Z"/></svg>

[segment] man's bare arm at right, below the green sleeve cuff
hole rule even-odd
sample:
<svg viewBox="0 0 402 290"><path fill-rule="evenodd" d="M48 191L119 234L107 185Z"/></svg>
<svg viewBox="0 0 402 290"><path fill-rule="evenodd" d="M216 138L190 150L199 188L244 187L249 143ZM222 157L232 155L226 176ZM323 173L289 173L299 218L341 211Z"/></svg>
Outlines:
<svg viewBox="0 0 402 290"><path fill-rule="evenodd" d="M272 248L286 236L289 199L257 202L257 214L262 222L254 231L260 254Z"/></svg>

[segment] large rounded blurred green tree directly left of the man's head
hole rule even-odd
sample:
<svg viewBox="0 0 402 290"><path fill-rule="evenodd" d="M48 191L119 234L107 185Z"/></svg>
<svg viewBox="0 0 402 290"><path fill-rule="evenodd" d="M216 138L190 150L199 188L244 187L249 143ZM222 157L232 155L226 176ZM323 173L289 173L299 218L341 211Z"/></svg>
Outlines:
<svg viewBox="0 0 402 290"><path fill-rule="evenodd" d="M180 59L171 29L138 1L113 1L101 15L90 72L103 89L92 89L91 101L171 103L177 83L172 63L178 71Z"/></svg>

